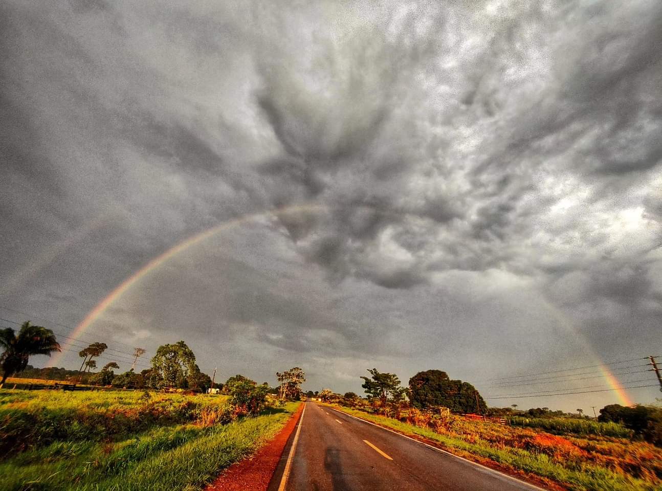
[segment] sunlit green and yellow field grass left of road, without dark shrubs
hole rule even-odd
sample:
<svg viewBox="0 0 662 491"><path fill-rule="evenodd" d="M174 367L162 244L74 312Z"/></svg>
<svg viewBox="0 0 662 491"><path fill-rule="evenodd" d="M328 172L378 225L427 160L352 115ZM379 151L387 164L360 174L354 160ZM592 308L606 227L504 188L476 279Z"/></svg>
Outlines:
<svg viewBox="0 0 662 491"><path fill-rule="evenodd" d="M54 400L49 400L52 395ZM209 416L214 406L226 404L225 398L160 394L146 403L140 396L141 392L0 392L0 412L12 416L27 412L34 416L45 410L46 414L37 418L44 428L50 421L62 424L62 420L53 419L54 414L89 413L87 419L78 422L77 427L83 430L58 431L58 438L32 439L26 450L12 452L11 457L0 461L0 490L198 490L222 469L273 437L298 406L286 404L257 418L209 425L210 419L201 415ZM186 410L181 410L183 406ZM98 422L99 412L112 420L113 414L117 418L126 410L144 414L145 407L161 417L140 431L131 432L130 425L111 425L109 428L121 431L95 438L79 437L93 427L90 422ZM167 410L172 413L166 417ZM187 422L179 422L181 419ZM0 427L0 431L5 431L5 427Z"/></svg>

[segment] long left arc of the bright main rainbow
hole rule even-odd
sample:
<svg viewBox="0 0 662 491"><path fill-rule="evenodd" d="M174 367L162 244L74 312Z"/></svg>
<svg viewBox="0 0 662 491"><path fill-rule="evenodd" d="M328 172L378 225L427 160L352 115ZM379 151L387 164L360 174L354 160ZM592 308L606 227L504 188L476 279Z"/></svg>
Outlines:
<svg viewBox="0 0 662 491"><path fill-rule="evenodd" d="M268 216L268 215L279 215L279 214L290 214L290 213L295 213L295 212L319 212L322 210L326 210L326 206L322 206L320 204L299 204L295 206L286 206L284 208L277 208L274 210L266 210L258 213L252 213L248 215L243 215L238 218L234 218L232 220L228 220L226 222L222 222L221 224L218 224L212 228L209 228L205 230L204 232L201 232L200 234L197 234L193 237L188 238L187 240L184 240L183 242L180 242L176 246L172 247L171 249L168 249L166 252L162 253L161 255L158 255L154 259L152 259L150 262L148 262L146 265L144 265L142 268L138 269L136 273L132 274L130 277L122 281L120 285L118 285L115 290L110 292L101 302L99 302L95 308L93 308L87 316L78 324L75 329L71 332L69 335L71 341L75 341L80 337L88 328L91 326L100 316L105 312L115 300L120 298L122 294L124 294L127 290L131 289L136 283L138 283L141 279L143 279L146 275L148 275L150 272L154 271L155 269L158 269L161 265L169 261L169 259L175 257L177 254L189 249L190 247L195 246L196 244L200 244L201 242L204 242L205 240L213 237L214 235L223 232L224 230L228 230L229 228L244 224L246 222L251 222L252 220L257 220L258 218L262 218L263 216ZM63 356L63 351L60 351L59 353L56 353L53 357L51 357L49 361L49 365L51 367L56 367L58 366L58 363L60 363L60 359L62 359Z"/></svg>

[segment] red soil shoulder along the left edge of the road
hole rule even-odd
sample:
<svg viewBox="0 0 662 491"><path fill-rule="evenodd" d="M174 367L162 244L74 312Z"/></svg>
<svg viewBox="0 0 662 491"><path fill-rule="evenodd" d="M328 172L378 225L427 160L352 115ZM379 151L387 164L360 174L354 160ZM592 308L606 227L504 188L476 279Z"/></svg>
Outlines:
<svg viewBox="0 0 662 491"><path fill-rule="evenodd" d="M303 404L273 440L261 447L253 457L232 464L205 491L266 491L302 411Z"/></svg>

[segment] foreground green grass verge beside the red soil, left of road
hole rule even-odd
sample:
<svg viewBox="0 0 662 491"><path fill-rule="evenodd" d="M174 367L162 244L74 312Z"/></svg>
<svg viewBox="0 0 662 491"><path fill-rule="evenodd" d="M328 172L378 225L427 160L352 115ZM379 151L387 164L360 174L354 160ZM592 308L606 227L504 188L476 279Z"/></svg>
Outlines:
<svg viewBox="0 0 662 491"><path fill-rule="evenodd" d="M226 425L170 424L110 441L53 441L0 462L0 490L199 490L283 427L299 403Z"/></svg>

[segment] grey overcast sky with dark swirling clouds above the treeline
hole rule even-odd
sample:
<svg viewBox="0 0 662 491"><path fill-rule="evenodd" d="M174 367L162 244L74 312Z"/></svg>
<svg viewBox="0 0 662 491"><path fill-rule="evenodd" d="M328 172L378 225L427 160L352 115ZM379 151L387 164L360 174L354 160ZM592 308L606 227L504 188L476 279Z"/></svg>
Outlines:
<svg viewBox="0 0 662 491"><path fill-rule="evenodd" d="M33 322L68 334L265 212L80 342L148 363L184 339L216 380L298 365L338 392L442 369L487 396L662 355L659 0L10 0L0 42L0 304Z"/></svg>

